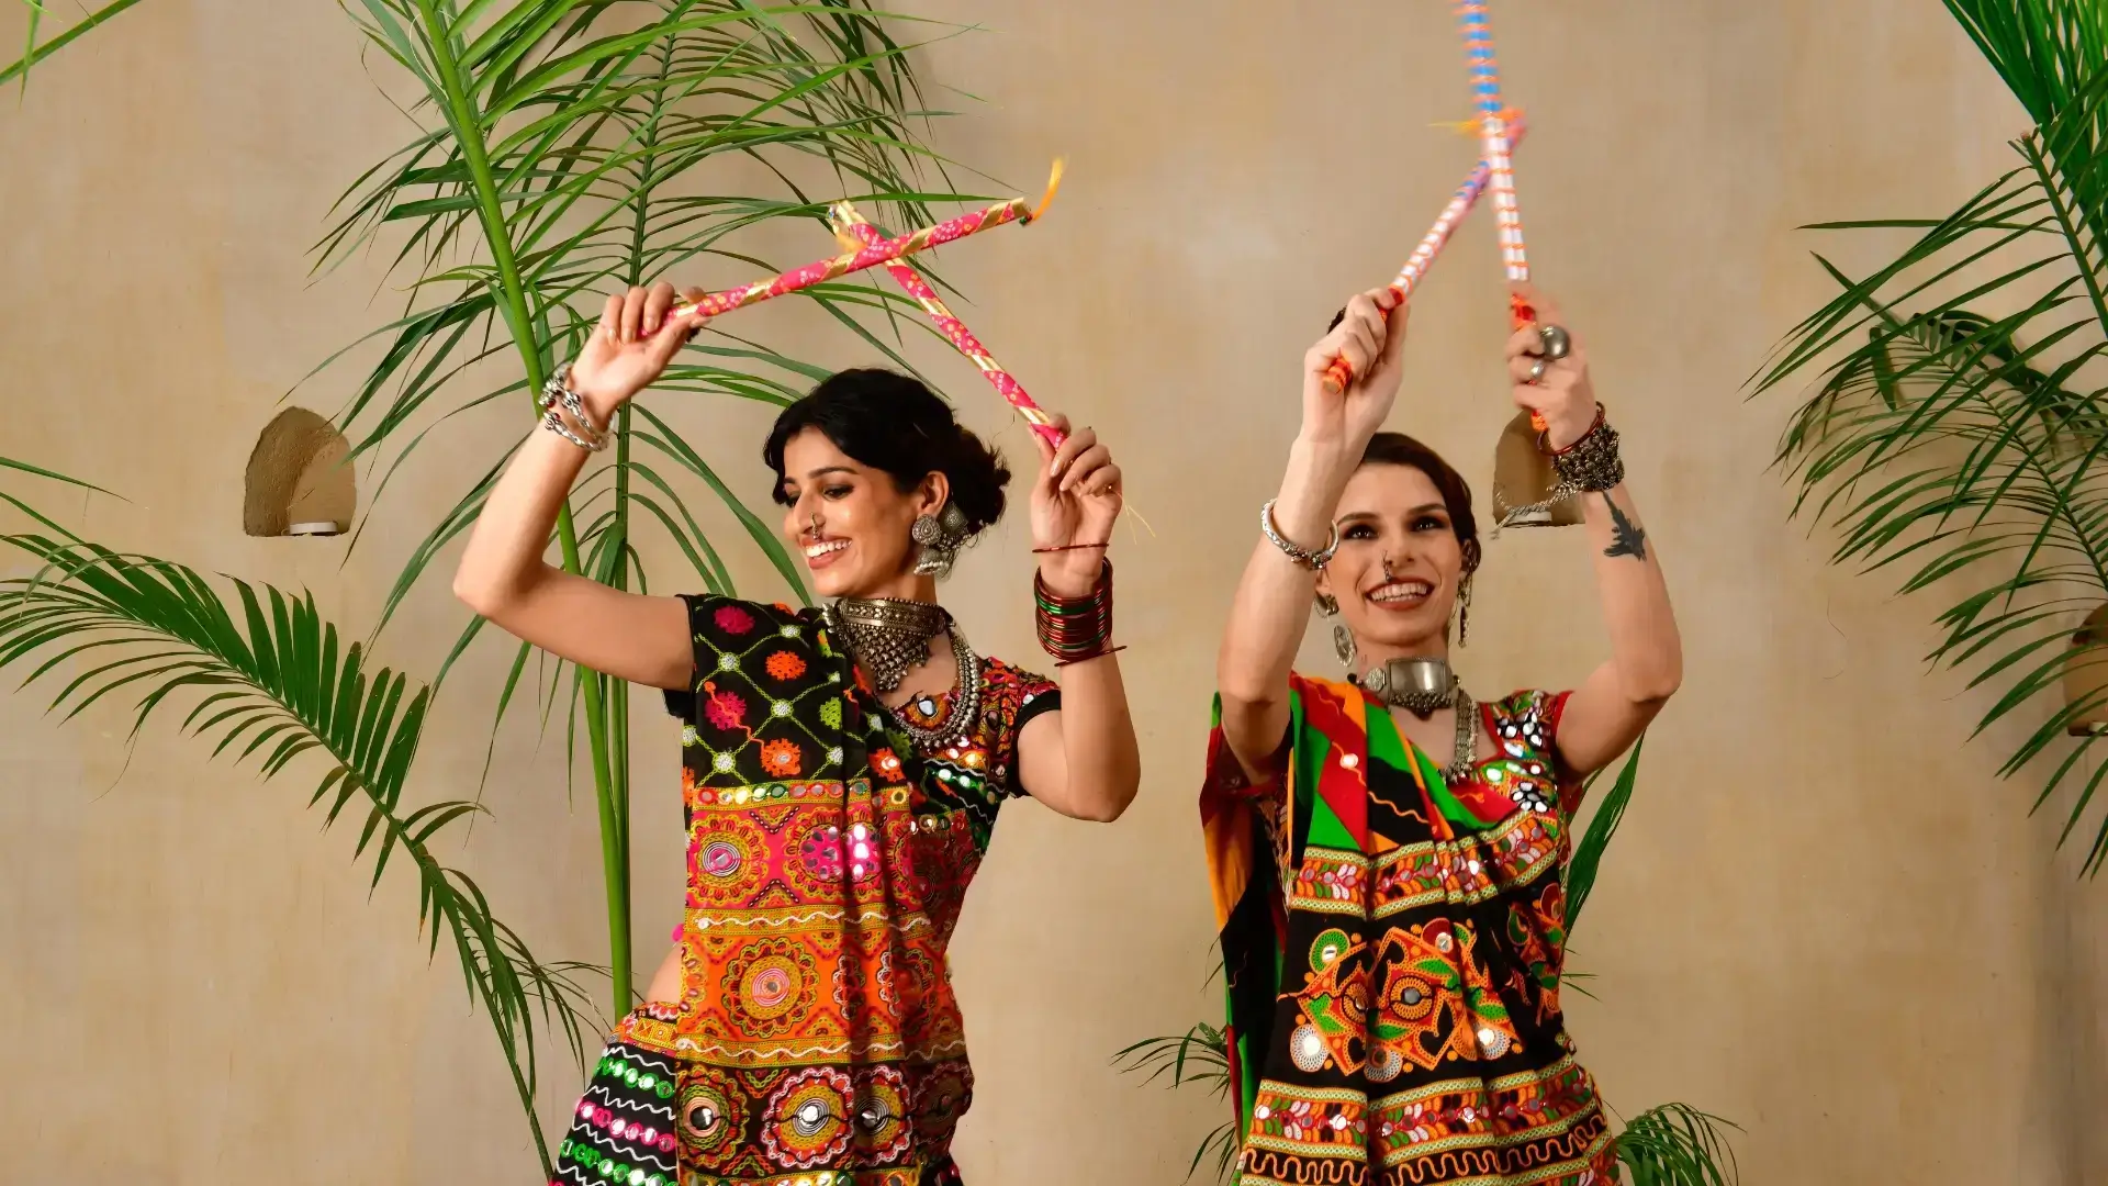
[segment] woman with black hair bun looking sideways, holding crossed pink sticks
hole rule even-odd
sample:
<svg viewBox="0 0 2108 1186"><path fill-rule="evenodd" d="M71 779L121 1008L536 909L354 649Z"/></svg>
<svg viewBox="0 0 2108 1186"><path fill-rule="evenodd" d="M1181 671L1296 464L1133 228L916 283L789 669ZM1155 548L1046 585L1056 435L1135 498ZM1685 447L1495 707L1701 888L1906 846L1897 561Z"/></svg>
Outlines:
<svg viewBox="0 0 2108 1186"><path fill-rule="evenodd" d="M824 608L643 597L542 559L624 401L700 329L670 285L607 300L491 490L453 589L683 720L687 910L557 1163L565 1186L957 1184L972 1099L944 948L1006 800L1111 821L1140 781L1113 658L1119 466L1039 437L1039 639L1058 682L980 656L936 601L1010 471L921 382L831 376L763 445ZM1060 422L1067 428L1067 422Z"/></svg>

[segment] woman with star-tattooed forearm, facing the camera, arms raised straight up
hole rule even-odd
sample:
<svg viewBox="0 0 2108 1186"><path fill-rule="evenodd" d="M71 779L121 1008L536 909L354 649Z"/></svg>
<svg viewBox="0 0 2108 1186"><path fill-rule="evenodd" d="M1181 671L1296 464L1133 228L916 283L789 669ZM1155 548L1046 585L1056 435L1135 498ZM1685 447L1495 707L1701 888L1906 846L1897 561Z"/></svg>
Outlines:
<svg viewBox="0 0 2108 1186"><path fill-rule="evenodd" d="M1450 671L1484 553L1463 477L1379 433L1406 308L1358 295L1305 357L1202 791L1246 1186L1617 1180L1560 1013L1562 878L1581 779L1661 711L1682 652L1587 352L1524 295L1547 325L1507 344L1514 397L1581 500L1611 635L1573 692L1480 703ZM1330 395L1336 355L1364 378ZM1313 606L1345 682L1290 669Z"/></svg>

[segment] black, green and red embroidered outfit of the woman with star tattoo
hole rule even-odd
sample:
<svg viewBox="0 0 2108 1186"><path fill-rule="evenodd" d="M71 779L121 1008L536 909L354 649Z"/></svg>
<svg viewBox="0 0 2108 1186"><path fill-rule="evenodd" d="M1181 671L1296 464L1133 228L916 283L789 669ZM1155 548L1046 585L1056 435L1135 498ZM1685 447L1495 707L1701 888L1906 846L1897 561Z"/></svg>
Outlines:
<svg viewBox="0 0 2108 1186"><path fill-rule="evenodd" d="M1275 774L1254 785L1216 737L1202 791L1237 1180L1617 1182L1558 998L1564 699L1486 705L1497 753L1446 785L1362 690L1296 675L1292 692Z"/></svg>

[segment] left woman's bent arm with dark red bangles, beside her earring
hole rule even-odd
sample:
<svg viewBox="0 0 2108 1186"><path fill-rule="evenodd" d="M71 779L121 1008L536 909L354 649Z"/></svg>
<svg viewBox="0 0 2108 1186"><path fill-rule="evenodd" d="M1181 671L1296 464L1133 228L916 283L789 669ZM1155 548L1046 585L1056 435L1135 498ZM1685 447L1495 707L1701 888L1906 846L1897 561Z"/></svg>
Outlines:
<svg viewBox="0 0 2108 1186"><path fill-rule="evenodd" d="M1069 433L1065 416L1054 418ZM1052 597L1088 597L1109 580L1105 544L1113 538L1124 490L1113 454L1090 428L1069 433L1060 452L1041 441L1033 483L1033 549L1039 585ZM1111 652L1058 667L1060 711L1033 718L1018 734L1018 779L1046 806L1073 817L1113 821L1143 783L1140 745L1128 711L1128 686Z"/></svg>

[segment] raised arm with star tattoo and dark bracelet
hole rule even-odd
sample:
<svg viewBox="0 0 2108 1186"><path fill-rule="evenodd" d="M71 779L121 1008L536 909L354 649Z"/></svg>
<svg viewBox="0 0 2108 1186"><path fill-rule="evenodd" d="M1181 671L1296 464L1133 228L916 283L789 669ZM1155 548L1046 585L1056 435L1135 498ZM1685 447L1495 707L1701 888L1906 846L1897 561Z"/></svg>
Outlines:
<svg viewBox="0 0 2108 1186"><path fill-rule="evenodd" d="M1543 293L1530 291L1526 298L1539 319L1564 327L1558 308ZM1507 365L1516 380L1516 403L1543 414L1547 443L1570 449L1573 458L1602 439L1583 441L1596 428L1596 386L1587 374L1587 350L1570 329L1568 336L1570 352L1547 361L1537 382L1530 382L1539 344L1535 325L1509 340ZM1684 675L1684 648L1655 540L1640 525L1632 492L1619 481L1579 498L1596 563L1596 593L1611 633L1611 658L1568 696L1558 747L1568 768L1587 774L1623 753L1676 692Z"/></svg>

